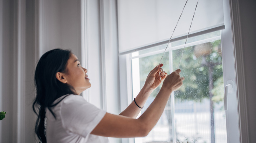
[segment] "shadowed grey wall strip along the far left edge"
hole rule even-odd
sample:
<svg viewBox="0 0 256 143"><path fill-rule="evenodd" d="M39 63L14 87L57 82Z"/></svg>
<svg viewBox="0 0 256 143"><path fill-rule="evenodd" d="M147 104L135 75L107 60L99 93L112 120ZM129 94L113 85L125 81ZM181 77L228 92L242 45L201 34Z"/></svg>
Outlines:
<svg viewBox="0 0 256 143"><path fill-rule="evenodd" d="M14 106L14 92L12 85L14 70L13 51L13 19L9 17L14 16L11 7L14 5L12 1L0 1L0 110L7 112L4 120L0 121L0 142L14 142L15 129L15 113Z"/></svg>

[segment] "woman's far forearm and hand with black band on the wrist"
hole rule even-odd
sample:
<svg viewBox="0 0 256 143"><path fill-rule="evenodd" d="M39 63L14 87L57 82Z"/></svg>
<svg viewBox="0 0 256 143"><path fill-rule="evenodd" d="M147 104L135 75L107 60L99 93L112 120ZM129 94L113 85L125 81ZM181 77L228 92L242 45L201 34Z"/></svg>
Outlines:
<svg viewBox="0 0 256 143"><path fill-rule="evenodd" d="M161 73L161 78L164 80L167 76L167 73L163 71L162 67L163 64L160 64L156 66L147 76L146 82L144 86L141 88L139 94L136 96L135 101L139 105L139 107L143 107L146 103L149 95L155 90L160 84L160 77L159 73ZM130 103L130 105L119 115L123 115L126 117L136 118L139 115L139 112L141 111L141 108L139 108L135 102L133 101Z"/></svg>

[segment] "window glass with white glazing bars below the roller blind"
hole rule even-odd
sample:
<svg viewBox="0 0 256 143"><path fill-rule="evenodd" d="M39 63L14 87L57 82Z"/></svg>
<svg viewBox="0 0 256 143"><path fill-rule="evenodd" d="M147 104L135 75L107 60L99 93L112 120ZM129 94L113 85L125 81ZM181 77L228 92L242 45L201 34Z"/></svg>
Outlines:
<svg viewBox="0 0 256 143"><path fill-rule="evenodd" d="M169 44L162 59L163 69L177 69L184 40ZM158 65L166 44L130 55L133 98L145 83L148 72ZM172 93L157 125L135 143L175 140L216 143L227 142L224 83L220 31L189 38L181 60L183 86ZM161 85L160 85L161 87ZM154 100L158 87L144 105L142 113Z"/></svg>

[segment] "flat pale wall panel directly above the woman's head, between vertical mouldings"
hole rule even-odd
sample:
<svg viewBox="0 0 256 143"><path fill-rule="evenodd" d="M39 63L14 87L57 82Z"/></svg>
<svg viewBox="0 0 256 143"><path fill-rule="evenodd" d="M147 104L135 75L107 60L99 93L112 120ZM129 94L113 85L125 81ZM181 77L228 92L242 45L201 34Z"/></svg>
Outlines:
<svg viewBox="0 0 256 143"><path fill-rule="evenodd" d="M54 48L71 49L81 59L79 4L80 0L40 1L40 54Z"/></svg>

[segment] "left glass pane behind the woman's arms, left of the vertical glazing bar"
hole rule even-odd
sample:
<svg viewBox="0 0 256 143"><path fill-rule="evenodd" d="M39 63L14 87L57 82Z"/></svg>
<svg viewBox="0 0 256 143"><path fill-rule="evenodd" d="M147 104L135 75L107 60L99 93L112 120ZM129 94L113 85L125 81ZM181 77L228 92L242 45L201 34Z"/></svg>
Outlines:
<svg viewBox="0 0 256 143"><path fill-rule="evenodd" d="M139 90L143 87L145 80L148 76L148 73L159 64L159 61L162 57L163 53L146 56L141 58L132 59L132 83L133 83L133 97L136 97L139 93ZM164 57L162 59L163 70L167 73L169 71L169 53L165 52ZM139 70L138 70L139 69ZM136 77L136 79L134 79ZM138 85L139 78L139 85ZM149 96L147 102L144 105L144 108L141 110L141 114L148 108L148 106L153 102L157 93L160 91L162 85L160 85L153 93ZM139 87L139 89L138 89ZM134 90L136 90L134 92ZM164 113L159 119L156 126L152 129L152 131L146 136L142 138L135 138L135 143L152 143L152 142L169 142L172 140L172 122L171 122L171 108L170 102L166 105Z"/></svg>

